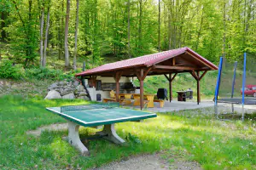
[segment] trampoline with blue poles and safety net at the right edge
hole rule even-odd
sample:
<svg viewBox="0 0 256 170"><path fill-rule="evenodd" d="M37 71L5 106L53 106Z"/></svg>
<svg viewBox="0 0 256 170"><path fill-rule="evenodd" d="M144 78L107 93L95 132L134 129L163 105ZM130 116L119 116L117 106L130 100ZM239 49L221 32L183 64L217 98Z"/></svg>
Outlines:
<svg viewBox="0 0 256 170"><path fill-rule="evenodd" d="M215 88L214 106L215 114L222 114L218 111L220 103L226 104L234 114L234 105L241 105L241 120L244 120L244 105L256 105L256 63L252 56L246 53L239 60L230 62L229 59L221 57L218 65L218 78ZM229 106L230 104L230 106Z"/></svg>

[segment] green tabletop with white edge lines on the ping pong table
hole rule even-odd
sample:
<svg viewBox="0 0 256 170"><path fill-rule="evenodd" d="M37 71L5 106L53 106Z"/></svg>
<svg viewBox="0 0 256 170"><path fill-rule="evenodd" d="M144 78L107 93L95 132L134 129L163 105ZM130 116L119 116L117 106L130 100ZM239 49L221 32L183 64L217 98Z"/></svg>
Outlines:
<svg viewBox="0 0 256 170"><path fill-rule="evenodd" d="M154 113L115 107L94 108L92 105L90 105L90 108L87 108L86 105L84 105L84 108L78 108L78 106L75 105L70 107L73 107L73 109L61 111L61 107L50 107L47 108L47 110L58 114L67 120L77 122L84 127L100 126L117 122L139 121L156 117L156 114Z"/></svg>

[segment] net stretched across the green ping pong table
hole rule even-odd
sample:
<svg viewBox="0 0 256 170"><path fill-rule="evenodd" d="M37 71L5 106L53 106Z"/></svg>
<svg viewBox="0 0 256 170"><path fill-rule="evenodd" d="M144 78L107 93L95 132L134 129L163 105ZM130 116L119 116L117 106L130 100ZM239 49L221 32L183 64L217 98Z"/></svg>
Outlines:
<svg viewBox="0 0 256 170"><path fill-rule="evenodd" d="M96 109L113 109L119 108L119 103L109 102L92 105L67 105L61 106L61 113L69 111L84 111L84 110L96 110Z"/></svg>

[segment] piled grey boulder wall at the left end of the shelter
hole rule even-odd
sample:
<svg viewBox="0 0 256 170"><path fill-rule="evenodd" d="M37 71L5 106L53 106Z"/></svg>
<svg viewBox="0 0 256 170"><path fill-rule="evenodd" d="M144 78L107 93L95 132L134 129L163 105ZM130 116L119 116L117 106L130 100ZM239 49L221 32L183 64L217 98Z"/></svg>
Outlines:
<svg viewBox="0 0 256 170"><path fill-rule="evenodd" d="M86 99L87 93L79 81L61 81L51 84L49 92L44 99Z"/></svg>

